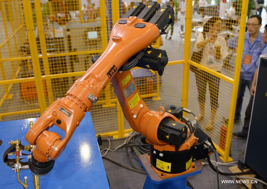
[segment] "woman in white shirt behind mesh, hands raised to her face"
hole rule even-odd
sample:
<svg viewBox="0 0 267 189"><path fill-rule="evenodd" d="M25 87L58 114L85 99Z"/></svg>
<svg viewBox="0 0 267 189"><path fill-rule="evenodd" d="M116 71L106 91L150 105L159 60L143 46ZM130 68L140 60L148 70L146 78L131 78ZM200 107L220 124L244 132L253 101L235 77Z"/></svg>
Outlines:
<svg viewBox="0 0 267 189"><path fill-rule="evenodd" d="M221 25L222 20L219 17L210 18L204 25L203 33L198 34L194 49L195 52L201 52L202 50L201 65L219 73L222 70L223 60L228 55L225 38L218 35L222 28ZM206 129L211 130L213 129L215 114L219 107L218 95L220 78L202 70L197 70L195 74L200 109L200 114L197 117L198 121L201 121L204 118L206 86L207 83L209 84L211 116L206 125Z"/></svg>

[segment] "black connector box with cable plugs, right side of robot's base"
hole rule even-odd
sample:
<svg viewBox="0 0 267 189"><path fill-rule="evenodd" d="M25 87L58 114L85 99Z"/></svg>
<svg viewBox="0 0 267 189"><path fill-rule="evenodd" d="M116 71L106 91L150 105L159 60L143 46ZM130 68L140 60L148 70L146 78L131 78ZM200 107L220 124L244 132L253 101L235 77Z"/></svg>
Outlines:
<svg viewBox="0 0 267 189"><path fill-rule="evenodd" d="M206 133L198 128L194 134L198 138L198 144L192 148L194 161L207 158L212 152L215 152L212 140Z"/></svg>

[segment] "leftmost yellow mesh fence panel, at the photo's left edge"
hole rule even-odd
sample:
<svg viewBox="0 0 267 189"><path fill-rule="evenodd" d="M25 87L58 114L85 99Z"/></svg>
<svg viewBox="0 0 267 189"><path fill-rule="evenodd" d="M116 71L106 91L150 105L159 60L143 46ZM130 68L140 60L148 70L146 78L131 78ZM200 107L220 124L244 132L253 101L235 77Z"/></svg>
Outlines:
<svg viewBox="0 0 267 189"><path fill-rule="evenodd" d="M34 76L24 16L22 1L0 1L1 121L36 117L39 112L35 82L17 81Z"/></svg>

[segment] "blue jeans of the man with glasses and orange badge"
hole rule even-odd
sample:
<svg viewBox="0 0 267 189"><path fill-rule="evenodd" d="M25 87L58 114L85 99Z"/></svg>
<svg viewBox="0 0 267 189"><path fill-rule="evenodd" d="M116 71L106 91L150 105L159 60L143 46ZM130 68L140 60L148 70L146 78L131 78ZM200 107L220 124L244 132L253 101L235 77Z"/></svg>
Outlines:
<svg viewBox="0 0 267 189"><path fill-rule="evenodd" d="M243 97L246 91L246 86L251 88L252 80L245 80L240 77L239 79L239 87L238 87L238 94L237 94L237 99L236 99L236 113L235 113L235 119L240 119L241 118L241 109L242 109L242 103L243 103Z"/></svg>

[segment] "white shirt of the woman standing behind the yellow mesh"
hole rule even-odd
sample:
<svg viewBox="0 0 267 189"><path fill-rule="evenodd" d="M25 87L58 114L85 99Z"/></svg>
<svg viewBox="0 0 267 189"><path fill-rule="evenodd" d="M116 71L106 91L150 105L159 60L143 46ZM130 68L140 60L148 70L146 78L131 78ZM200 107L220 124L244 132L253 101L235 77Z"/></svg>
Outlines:
<svg viewBox="0 0 267 189"><path fill-rule="evenodd" d="M208 39L208 34L206 35L206 39ZM201 51L202 48L198 48L197 44L201 41L204 41L203 33L199 33L197 36L197 41L195 43L195 52ZM220 45L220 53L221 58L219 60L215 59L216 49L214 48L215 45ZM222 71L223 60L227 57L227 44L225 39L222 36L217 36L216 41L212 44L211 42L207 43L203 48L203 56L201 59L200 64L210 68L214 71ZM212 61L211 61L212 60Z"/></svg>

